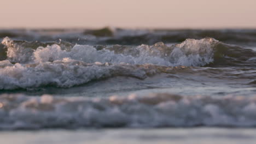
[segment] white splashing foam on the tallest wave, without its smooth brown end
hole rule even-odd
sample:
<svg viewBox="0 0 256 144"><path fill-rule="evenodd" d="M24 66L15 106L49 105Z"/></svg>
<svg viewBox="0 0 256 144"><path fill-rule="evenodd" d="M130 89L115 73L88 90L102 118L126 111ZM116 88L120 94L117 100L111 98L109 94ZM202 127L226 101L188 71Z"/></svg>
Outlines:
<svg viewBox="0 0 256 144"><path fill-rule="evenodd" d="M2 44L8 47L8 60L15 63L53 62L68 57L86 63L202 66L213 62L213 49L217 42L212 38L187 39L181 44L170 47L164 43L126 47L123 53L116 52L120 51L121 47L117 47L114 51L109 49L97 51L89 45L75 45L71 51L61 49L57 44L33 50L30 47L14 44L9 38L5 38Z"/></svg>

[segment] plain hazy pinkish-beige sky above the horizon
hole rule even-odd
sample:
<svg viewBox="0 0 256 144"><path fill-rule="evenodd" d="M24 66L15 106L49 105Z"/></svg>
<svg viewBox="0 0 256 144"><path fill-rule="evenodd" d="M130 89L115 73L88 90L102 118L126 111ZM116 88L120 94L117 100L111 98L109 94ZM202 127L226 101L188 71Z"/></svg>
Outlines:
<svg viewBox="0 0 256 144"><path fill-rule="evenodd" d="M256 0L0 0L0 28L256 28Z"/></svg>

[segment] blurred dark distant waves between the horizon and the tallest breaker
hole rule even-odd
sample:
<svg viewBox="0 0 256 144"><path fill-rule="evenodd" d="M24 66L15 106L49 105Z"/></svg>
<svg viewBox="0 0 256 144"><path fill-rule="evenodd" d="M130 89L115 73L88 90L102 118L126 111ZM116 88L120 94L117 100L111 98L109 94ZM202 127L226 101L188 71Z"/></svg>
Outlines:
<svg viewBox="0 0 256 144"><path fill-rule="evenodd" d="M158 41L181 43L190 39L211 37L225 43L255 43L256 29L7 29L0 39L10 37L30 41L63 39L78 44L152 45Z"/></svg>

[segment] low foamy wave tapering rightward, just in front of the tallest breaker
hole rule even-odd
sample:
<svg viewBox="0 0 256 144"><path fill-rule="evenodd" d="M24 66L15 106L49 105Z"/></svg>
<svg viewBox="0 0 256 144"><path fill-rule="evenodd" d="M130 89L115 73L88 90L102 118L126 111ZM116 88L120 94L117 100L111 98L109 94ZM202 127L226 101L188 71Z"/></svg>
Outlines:
<svg viewBox="0 0 256 144"><path fill-rule="evenodd" d="M145 79L160 73L174 73L185 67L157 65L129 65L109 63L84 63L69 58L62 61L33 64L0 62L0 89L36 88L44 86L73 87L92 80L125 76Z"/></svg>

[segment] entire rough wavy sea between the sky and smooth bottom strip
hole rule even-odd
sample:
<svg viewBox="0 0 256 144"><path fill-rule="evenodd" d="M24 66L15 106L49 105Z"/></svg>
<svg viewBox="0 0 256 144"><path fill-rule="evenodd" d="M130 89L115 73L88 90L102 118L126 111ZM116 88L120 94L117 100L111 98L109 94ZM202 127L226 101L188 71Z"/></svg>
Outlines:
<svg viewBox="0 0 256 144"><path fill-rule="evenodd" d="M0 36L1 130L256 126L256 30Z"/></svg>

